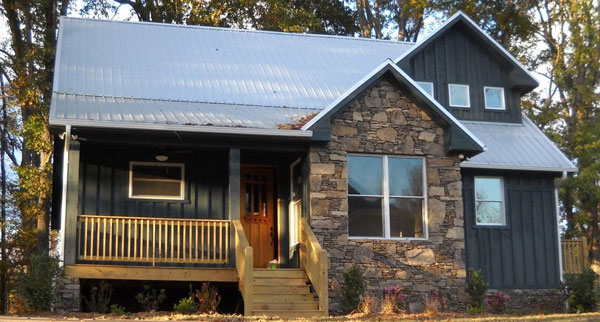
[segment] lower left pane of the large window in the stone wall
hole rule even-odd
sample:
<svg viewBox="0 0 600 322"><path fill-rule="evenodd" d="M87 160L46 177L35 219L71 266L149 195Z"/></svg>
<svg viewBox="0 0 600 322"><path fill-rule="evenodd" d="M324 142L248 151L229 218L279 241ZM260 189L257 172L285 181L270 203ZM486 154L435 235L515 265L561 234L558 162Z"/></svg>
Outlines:
<svg viewBox="0 0 600 322"><path fill-rule="evenodd" d="M350 236L383 237L382 198L348 197Z"/></svg>

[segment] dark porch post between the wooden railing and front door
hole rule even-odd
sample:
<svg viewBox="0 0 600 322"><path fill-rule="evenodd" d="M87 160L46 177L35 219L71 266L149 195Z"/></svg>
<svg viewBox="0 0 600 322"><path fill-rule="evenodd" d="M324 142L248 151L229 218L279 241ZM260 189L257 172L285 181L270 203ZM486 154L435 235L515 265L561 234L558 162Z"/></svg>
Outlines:
<svg viewBox="0 0 600 322"><path fill-rule="evenodd" d="M229 220L240 219L240 149L229 149L229 190L228 207ZM229 240L235 240L235 231L230 229ZM235 243L229 244L230 262L235 260ZM235 263L234 263L235 264Z"/></svg>

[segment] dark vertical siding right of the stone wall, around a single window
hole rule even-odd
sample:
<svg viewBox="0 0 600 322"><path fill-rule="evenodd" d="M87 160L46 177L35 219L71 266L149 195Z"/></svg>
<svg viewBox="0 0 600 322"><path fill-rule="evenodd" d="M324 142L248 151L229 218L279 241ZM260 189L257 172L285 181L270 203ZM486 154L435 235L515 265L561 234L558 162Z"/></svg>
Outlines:
<svg viewBox="0 0 600 322"><path fill-rule="evenodd" d="M474 176L504 179L506 226L475 225ZM554 177L462 170L467 267L481 269L490 288L560 285Z"/></svg>

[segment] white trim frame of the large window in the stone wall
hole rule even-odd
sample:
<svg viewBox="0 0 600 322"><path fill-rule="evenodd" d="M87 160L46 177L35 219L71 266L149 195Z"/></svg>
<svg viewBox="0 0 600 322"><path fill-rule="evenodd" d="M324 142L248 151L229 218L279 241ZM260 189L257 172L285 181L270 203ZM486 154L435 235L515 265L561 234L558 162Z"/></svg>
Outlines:
<svg viewBox="0 0 600 322"><path fill-rule="evenodd" d="M429 240L429 213L428 213L428 205L427 205L427 167L426 167L426 158L422 157L422 156L413 156L413 155L387 155L387 154L369 154L369 153L348 153L347 154L348 157L380 157L381 158L381 162L382 164L382 175L383 175L383 180L382 180L382 192L383 195L356 195L356 194L350 194L348 193L349 188L348 188L348 181L346 180L346 201L348 202L348 198L353 196L353 197L377 197L377 198L382 198L383 197L383 213L381 214L383 216L382 218L382 225L383 225L383 236L378 237L378 236L351 236L350 235L350 224L348 223L348 239L353 239L353 240L395 240L395 241L405 241L405 242L409 242L409 241L427 241ZM348 157L346 158L346 162L348 162ZM423 167L423 171L422 171L422 181L423 181L423 195L422 196L390 196L389 194L389 178L388 178L388 158L404 158L404 159L420 159L421 160L421 164ZM348 171L348 170L346 170ZM347 177L349 178L349 173L346 174ZM423 221L423 237L390 237L390 197L392 198L418 198L418 199L422 199L423 200L423 208L421 209L421 218ZM348 212L348 216L350 215L350 213ZM350 218L348 218L350 219Z"/></svg>

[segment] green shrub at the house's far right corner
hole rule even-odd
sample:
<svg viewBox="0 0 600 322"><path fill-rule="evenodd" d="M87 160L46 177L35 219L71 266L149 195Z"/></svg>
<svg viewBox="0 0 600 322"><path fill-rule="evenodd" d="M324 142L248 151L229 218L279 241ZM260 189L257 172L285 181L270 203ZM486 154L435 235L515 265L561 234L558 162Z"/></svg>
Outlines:
<svg viewBox="0 0 600 322"><path fill-rule="evenodd" d="M594 312L597 308L594 271L587 269L578 275L567 275L569 309L571 312Z"/></svg>

